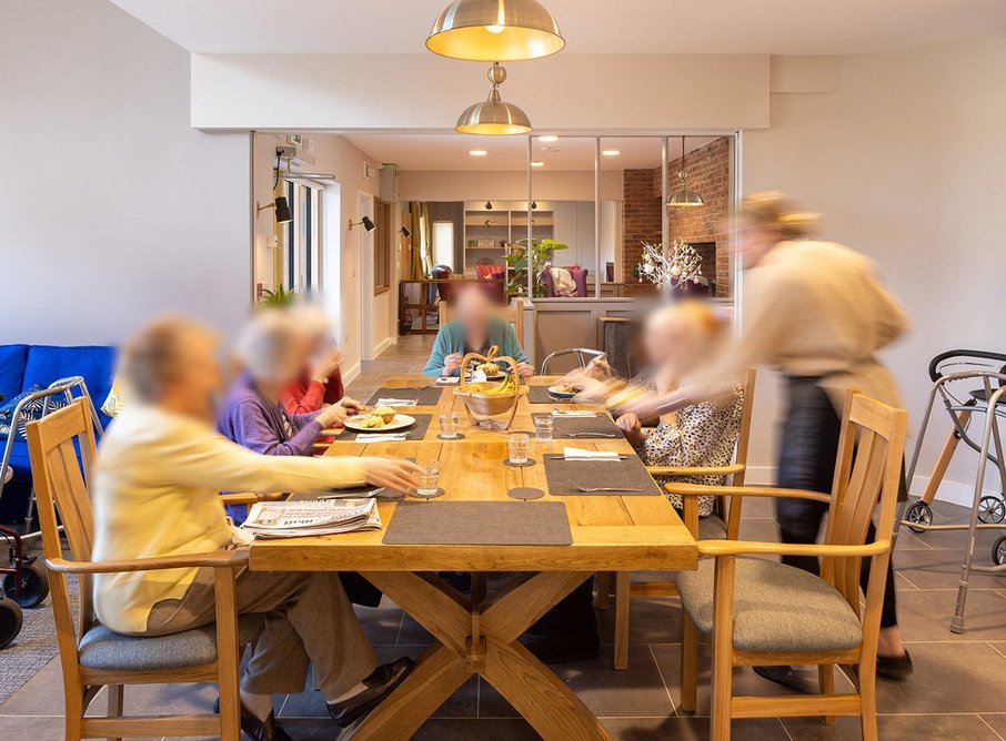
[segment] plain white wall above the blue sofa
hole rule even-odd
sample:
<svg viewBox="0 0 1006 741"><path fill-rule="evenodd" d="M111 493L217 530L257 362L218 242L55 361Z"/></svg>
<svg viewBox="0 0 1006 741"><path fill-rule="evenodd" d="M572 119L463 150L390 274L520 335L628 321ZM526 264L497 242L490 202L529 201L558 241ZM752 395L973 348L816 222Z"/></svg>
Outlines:
<svg viewBox="0 0 1006 741"><path fill-rule="evenodd" d="M0 0L0 343L250 305L249 136L189 125L189 53L107 0Z"/></svg>

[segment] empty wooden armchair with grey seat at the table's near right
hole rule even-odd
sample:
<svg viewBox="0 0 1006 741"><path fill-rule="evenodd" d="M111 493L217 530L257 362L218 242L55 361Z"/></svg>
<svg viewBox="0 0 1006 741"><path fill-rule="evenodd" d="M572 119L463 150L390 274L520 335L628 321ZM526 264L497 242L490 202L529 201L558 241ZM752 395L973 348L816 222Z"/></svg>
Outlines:
<svg viewBox="0 0 1006 741"><path fill-rule="evenodd" d="M796 497L831 507L823 545L702 540L697 571L678 575L685 626L682 637L682 709L694 712L698 631L712 633L712 737L728 741L733 718L861 717L863 738L877 738L876 656L902 475L907 413L849 394L842 422L832 494L798 489L728 487L741 497ZM677 494L712 494L715 487L668 484ZM866 542L879 503L876 537ZM813 556L821 577L764 556ZM869 558L865 608L859 569ZM781 620L781 616L786 616ZM688 628L691 626L691 628ZM816 664L821 693L734 697L734 667ZM857 691L836 694L835 664L853 664Z"/></svg>

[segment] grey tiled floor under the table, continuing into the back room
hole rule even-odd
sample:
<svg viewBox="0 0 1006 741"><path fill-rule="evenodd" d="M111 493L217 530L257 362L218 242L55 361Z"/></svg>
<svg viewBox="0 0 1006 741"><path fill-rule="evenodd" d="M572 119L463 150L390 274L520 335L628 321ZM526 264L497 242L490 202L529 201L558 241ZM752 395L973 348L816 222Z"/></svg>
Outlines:
<svg viewBox="0 0 1006 741"><path fill-rule="evenodd" d="M429 337L405 337L378 361L365 364L351 393L366 398L386 375L416 372L429 352ZM964 510L935 507L940 521L960 521ZM774 539L769 505L752 503L742 537ZM979 539L978 560L988 562L995 534ZM898 540L901 620L916 672L906 682L879 682L878 708L883 739L1006 740L1006 580L976 576L968 598L963 636L947 629L954 609L962 534L914 536ZM612 615L601 613L601 658L560 669L570 687L596 712L616 739L708 738L708 691L705 673L700 684L700 712L680 713L677 605L674 599L638 600L632 609L632 648L628 671L611 668ZM418 654L429 643L426 632L395 606L360 609L361 621L382 659ZM707 654L703 656L707 667ZM809 674L808 674L809 677ZM844 680L841 680L844 681ZM751 670L735 672L736 691L771 693L774 686ZM213 701L211 686L188 689L152 686L127 692L128 712L205 712ZM99 698L97 706L103 703ZM324 718L315 692L278 696L275 707L286 730L298 739L332 739L334 727ZM62 688L58 661L50 662L4 706L0 707L0 739L49 741L62 738ZM823 725L817 719L737 721L735 739L841 740L858 739L855 719ZM514 710L486 682L473 678L436 712L416 737L424 741L535 739Z"/></svg>

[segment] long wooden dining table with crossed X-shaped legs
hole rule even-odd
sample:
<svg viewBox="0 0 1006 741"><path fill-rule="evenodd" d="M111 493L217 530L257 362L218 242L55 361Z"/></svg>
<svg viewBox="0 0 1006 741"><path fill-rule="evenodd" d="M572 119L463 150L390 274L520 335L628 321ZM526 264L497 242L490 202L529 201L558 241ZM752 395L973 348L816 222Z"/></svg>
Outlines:
<svg viewBox="0 0 1006 741"><path fill-rule="evenodd" d="M551 384L555 378L532 378ZM385 389L429 386L432 378L395 376ZM512 430L533 430L532 413L549 404L520 400ZM596 409L562 405L564 409ZM677 571L695 569L697 548L674 508L663 496L562 496L549 494L543 457L572 445L634 456L622 437L531 440L529 467L503 465L507 432L473 427L462 400L446 386L433 406L403 408L403 414L432 414L422 440L368 443L335 440L329 456L403 456L419 463L439 461L437 501L513 501L514 487L545 491L541 501L565 505L572 545L475 546L389 545L384 531L360 531L252 544L250 568L262 571L359 571L433 636L435 643L416 661L412 673L373 711L353 734L366 739L409 739L473 673L481 674L546 740L610 739L601 721L569 687L539 661L519 638L550 608L601 571ZM457 412L463 439L437 439L437 416ZM379 504L386 528L398 503ZM476 575L470 596L462 595L433 571ZM490 589L485 576L509 575ZM495 583L497 579L493 579Z"/></svg>

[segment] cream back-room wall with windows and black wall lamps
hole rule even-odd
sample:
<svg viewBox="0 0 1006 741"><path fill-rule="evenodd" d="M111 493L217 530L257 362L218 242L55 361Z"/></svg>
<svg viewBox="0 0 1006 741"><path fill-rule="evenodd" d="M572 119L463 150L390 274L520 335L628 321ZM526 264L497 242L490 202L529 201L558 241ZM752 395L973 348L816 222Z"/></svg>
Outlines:
<svg viewBox="0 0 1006 741"><path fill-rule="evenodd" d="M334 182L340 185L341 195L341 223L335 226L339 234L339 244L326 244L322 254L322 262L325 260L340 260L342 285L331 286L322 285L322 290L331 295L333 292L339 297L341 316L339 319L342 336L339 337L339 344L345 354L345 362L342 366L343 376L352 379L360 370L360 359L362 357L362 337L361 337L361 306L363 301L370 301L372 305L372 324L373 324L373 344L386 344L390 337L395 336L395 315L396 315L396 292L388 292L380 296L373 295L373 286L363 285L363 263L364 256L360 251L360 235L363 229L356 226L350 232L346 229L349 220L360 221L360 192L371 195L380 194L380 170L373 158L361 152L350 144L343 136L336 134L310 134L315 146L315 164L311 168L313 172L333 174ZM271 201L273 172L275 164L275 148L285 141L284 134L256 132L254 135L254 196L262 203ZM363 163L371 163L371 176L363 177ZM392 213L396 213L392 209ZM329 225L332 226L331 224ZM398 225L394 226L398 229ZM272 274L273 258L271 251L265 246L265 240L272 234L273 217L272 212L263 212L254 223L254 264L255 282L264 283L266 287L274 284L275 276ZM326 230L328 232L328 230ZM370 248L371 237L364 237ZM370 253L366 255L370 258ZM324 264L321 266L321 275L328 274ZM398 277L394 277L393 285L398 285ZM332 305L326 302L326 305Z"/></svg>

